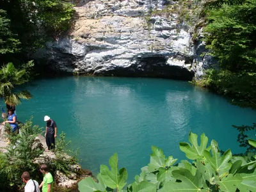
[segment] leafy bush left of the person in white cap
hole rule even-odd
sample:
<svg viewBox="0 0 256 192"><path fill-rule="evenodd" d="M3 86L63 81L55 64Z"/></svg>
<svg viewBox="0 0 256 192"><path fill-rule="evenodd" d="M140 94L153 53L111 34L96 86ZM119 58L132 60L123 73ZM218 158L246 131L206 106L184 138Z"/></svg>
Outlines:
<svg viewBox="0 0 256 192"><path fill-rule="evenodd" d="M43 150L36 147L35 138L42 133L42 129L32 125L32 118L25 124L20 124L20 134L8 134L11 143L8 145L7 152L0 158L3 169L1 173L6 175L4 181L9 186L19 186L22 184L20 175L22 172L38 171L36 164L33 163L35 157L42 154Z"/></svg>

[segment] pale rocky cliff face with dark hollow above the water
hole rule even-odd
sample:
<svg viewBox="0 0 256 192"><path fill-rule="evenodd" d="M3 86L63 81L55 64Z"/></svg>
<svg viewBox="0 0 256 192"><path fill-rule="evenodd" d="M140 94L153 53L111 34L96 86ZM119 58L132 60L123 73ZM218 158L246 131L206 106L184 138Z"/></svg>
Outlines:
<svg viewBox="0 0 256 192"><path fill-rule="evenodd" d="M102 76L148 76L191 80L211 58L191 42L186 24L166 13L168 0L80 1L72 30L35 58L54 71ZM152 10L157 10L153 14ZM162 11L161 11L162 10Z"/></svg>

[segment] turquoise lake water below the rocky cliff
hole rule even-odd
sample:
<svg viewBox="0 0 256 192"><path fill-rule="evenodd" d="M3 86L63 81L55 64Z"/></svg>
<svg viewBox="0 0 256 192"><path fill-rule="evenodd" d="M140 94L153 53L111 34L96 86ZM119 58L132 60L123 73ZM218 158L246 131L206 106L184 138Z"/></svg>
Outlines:
<svg viewBox="0 0 256 192"><path fill-rule="evenodd" d="M100 164L118 154L131 183L150 160L151 146L166 156L185 158L179 142L189 131L203 132L221 150L243 152L232 125L252 125L256 111L232 106L219 95L185 81L126 77L58 77L22 86L33 94L17 106L17 116L45 127L49 115L66 133L71 148L80 148L83 168L99 173ZM255 132L250 135L255 138Z"/></svg>

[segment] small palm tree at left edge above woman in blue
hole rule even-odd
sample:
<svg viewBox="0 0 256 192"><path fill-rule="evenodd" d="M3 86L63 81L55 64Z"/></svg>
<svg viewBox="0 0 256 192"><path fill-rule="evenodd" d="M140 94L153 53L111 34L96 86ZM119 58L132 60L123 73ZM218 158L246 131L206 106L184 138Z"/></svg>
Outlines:
<svg viewBox="0 0 256 192"><path fill-rule="evenodd" d="M6 105L17 106L21 99L31 99L33 95L28 91L13 92L15 86L28 82L26 70L19 70L13 63L8 63L0 69L0 97Z"/></svg>

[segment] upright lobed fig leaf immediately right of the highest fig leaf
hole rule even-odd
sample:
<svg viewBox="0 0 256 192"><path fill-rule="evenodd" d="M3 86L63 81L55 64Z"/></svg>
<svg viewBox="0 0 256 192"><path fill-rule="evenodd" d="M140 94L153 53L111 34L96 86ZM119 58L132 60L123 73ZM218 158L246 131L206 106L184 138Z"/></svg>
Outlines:
<svg viewBox="0 0 256 192"><path fill-rule="evenodd" d="M206 160L211 164L212 168L214 168L214 170L219 173L219 175L228 172L232 166L232 164L229 163L230 159L232 158L230 149L228 149L221 157L220 151L218 149L218 143L212 140L211 146L212 156L209 151L204 151Z"/></svg>

